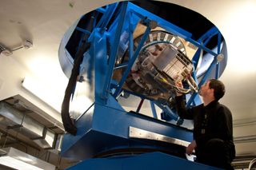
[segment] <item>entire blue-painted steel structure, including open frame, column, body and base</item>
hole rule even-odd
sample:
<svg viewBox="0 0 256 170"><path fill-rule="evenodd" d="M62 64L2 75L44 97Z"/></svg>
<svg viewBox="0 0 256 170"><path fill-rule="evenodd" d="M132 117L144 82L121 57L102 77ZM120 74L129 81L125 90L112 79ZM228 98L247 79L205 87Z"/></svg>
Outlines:
<svg viewBox="0 0 256 170"><path fill-rule="evenodd" d="M216 27L209 30L206 34L199 38L198 41L193 40L192 34L186 30L182 30L178 26L174 26L170 22L151 14L150 12L134 6L130 2L122 3L122 9L117 18L111 22L111 26L106 29L110 20L114 17L115 9L118 4L106 6L106 9L100 8L97 11L103 14L92 33L76 28L84 34L90 34L90 50L85 53L86 61L84 66L86 68L86 85L90 88L90 92L86 94L89 99L88 108L75 121L78 128L76 136L66 134L62 143L62 156L70 157L76 160L85 160L82 163L75 165L69 169L155 169L156 166L152 165L155 160L158 161L157 168L187 168L190 169L216 169L207 167L202 164L193 163L187 160L182 160L175 156L163 154L161 152L147 153L141 156L127 156L118 158L106 159L90 159L94 156L102 156L107 152L116 152L118 150L126 150L131 148L146 148L148 150L161 150L168 151L173 149L169 144L158 144L151 140L139 140L129 137L129 127L141 128L143 130L158 133L164 136L174 137L179 140L191 141L192 132L186 128L181 128L177 125L159 121L154 107L158 105L171 119L180 121L178 115L170 109L167 103L159 101L152 101L152 98L143 96L142 94L135 94L143 100L150 100L150 106L153 117L147 117L135 112L127 112L123 109L122 105L118 103L116 97L122 91L122 85L126 81L128 74L134 61L138 57L146 38L150 33L150 22L158 22L158 26L170 31L170 33L185 38L186 41L191 42L198 46L198 52L193 58L194 68L198 66L198 58L200 50L203 49L207 53L214 56L214 61L204 73L199 87L209 77L212 69L217 63L217 53L213 50L206 48L207 42L210 41L215 34L218 34ZM129 18L129 19L126 19ZM134 52L134 28L140 20L146 22L147 28L142 36L137 49ZM118 54L118 45L122 33L126 31L129 34L127 39L129 51L129 61L119 65L115 65ZM220 38L219 38L220 41ZM221 46L218 46L218 53L221 52ZM110 56L110 57L109 57ZM114 69L123 68L125 71L122 73L120 81L112 79ZM192 73L194 80L197 80L196 73ZM125 90L127 93L134 94L133 92ZM113 94L114 93L114 94ZM112 95L113 94L113 95ZM198 105L199 101L197 93L193 93L188 105ZM122 166L121 166L122 164ZM125 165L123 165L125 164Z"/></svg>

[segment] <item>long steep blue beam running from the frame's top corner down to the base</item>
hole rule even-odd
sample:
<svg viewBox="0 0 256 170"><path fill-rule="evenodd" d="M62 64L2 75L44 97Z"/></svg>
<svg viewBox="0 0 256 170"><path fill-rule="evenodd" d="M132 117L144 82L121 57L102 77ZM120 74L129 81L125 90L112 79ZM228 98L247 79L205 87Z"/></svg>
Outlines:
<svg viewBox="0 0 256 170"><path fill-rule="evenodd" d="M121 9L121 14L119 15L118 27L116 30L116 34L114 36L114 44L111 46L109 69L107 70L107 73L106 73L106 83L103 87L103 94L102 94L102 97L104 99L107 98L110 91L110 81L111 81L111 77L114 70L114 62L118 53L118 44L120 41L120 36L122 34L122 26L126 17L127 3L128 2L122 2L122 9Z"/></svg>

